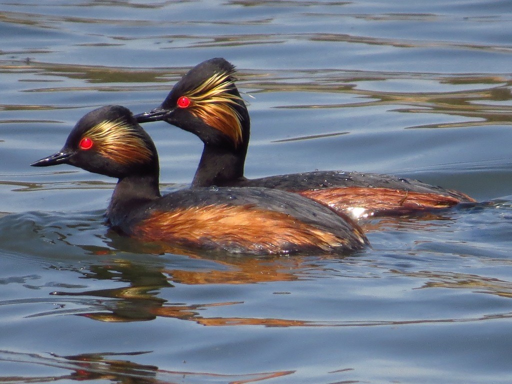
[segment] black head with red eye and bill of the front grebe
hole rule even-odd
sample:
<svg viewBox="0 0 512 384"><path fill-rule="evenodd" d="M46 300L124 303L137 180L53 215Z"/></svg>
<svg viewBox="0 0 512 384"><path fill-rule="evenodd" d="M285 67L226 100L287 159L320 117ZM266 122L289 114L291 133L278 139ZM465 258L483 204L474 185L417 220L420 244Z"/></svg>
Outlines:
<svg viewBox="0 0 512 384"><path fill-rule="evenodd" d="M76 123L59 152L30 165L57 164L116 178L158 173L155 144L130 110L120 105L89 112Z"/></svg>

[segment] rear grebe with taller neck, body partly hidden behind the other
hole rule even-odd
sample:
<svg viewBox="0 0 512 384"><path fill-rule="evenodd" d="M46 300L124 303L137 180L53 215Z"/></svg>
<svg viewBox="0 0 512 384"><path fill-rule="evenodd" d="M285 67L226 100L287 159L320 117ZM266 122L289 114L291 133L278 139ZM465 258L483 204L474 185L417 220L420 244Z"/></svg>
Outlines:
<svg viewBox="0 0 512 384"><path fill-rule="evenodd" d="M471 197L390 175L316 171L259 179L244 177L250 119L235 85L234 66L212 58L189 70L139 123L163 120L197 135L204 149L193 186L258 186L300 194L354 218L408 215L475 202Z"/></svg>

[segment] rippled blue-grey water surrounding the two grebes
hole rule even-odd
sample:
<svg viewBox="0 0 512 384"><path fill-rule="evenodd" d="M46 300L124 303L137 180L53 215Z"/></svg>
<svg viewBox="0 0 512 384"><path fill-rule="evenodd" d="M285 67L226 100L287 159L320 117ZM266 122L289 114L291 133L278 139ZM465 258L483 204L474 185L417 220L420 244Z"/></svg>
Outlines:
<svg viewBox="0 0 512 384"><path fill-rule="evenodd" d="M4 1L0 36L0 382L510 381L512 2ZM489 203L367 222L347 258L177 255L104 226L114 180L28 166L216 56L249 103L247 176ZM200 141L147 129L162 188L186 185Z"/></svg>

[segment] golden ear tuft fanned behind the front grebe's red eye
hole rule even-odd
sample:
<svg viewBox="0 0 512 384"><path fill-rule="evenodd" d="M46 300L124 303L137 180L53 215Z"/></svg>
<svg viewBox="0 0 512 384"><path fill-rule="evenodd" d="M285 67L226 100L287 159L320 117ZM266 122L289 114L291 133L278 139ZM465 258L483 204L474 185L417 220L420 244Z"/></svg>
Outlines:
<svg viewBox="0 0 512 384"><path fill-rule="evenodd" d="M134 126L122 120L104 120L82 135L94 142L102 156L123 165L151 161L153 153Z"/></svg>

